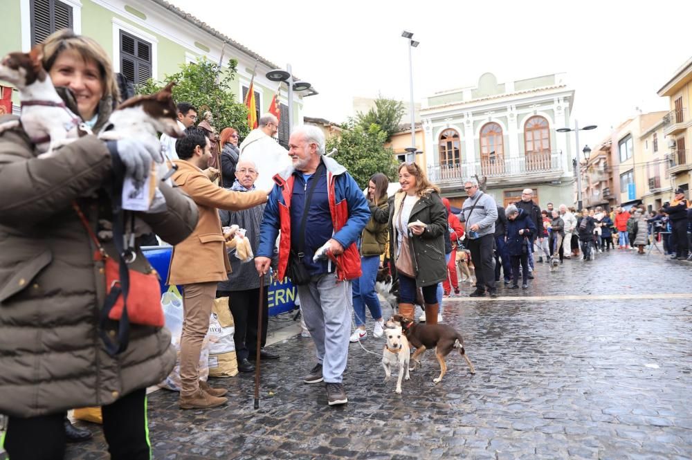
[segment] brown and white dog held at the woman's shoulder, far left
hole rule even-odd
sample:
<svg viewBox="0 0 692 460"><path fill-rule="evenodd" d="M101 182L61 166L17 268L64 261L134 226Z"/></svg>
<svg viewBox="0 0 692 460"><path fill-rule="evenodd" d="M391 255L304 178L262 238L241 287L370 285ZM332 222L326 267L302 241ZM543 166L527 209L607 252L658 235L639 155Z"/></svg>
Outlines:
<svg viewBox="0 0 692 460"><path fill-rule="evenodd" d="M39 158L51 156L54 149L78 138L80 129L91 131L57 94L42 59L43 46L36 45L28 53L10 53L0 62L0 80L19 90L19 120L36 145ZM2 131L18 125L19 122L3 123Z"/></svg>

